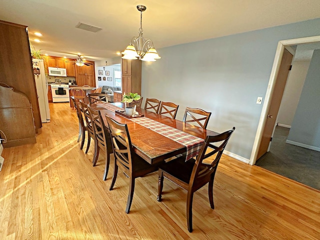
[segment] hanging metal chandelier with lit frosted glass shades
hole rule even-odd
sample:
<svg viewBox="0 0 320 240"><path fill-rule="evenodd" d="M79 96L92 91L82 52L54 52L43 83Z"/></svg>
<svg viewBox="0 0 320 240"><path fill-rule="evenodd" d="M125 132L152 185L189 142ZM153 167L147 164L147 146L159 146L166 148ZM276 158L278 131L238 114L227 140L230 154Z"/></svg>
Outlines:
<svg viewBox="0 0 320 240"><path fill-rule="evenodd" d="M124 59L137 59L142 61L155 61L155 59L161 58L156 52L153 42L142 36L142 11L145 11L146 6L137 5L136 8L140 11L140 28L139 36L133 36L130 44L121 53Z"/></svg>

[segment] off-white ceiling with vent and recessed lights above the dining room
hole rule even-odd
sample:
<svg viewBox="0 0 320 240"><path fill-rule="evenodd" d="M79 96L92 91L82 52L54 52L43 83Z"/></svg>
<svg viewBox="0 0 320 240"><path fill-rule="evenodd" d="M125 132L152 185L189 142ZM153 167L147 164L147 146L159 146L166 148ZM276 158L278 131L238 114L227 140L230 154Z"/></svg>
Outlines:
<svg viewBox="0 0 320 240"><path fill-rule="evenodd" d="M0 19L28 26L43 53L101 60L116 57L138 35L138 4L147 7L143 36L157 49L320 17L320 0L0 0ZM78 22L102 30L75 28Z"/></svg>

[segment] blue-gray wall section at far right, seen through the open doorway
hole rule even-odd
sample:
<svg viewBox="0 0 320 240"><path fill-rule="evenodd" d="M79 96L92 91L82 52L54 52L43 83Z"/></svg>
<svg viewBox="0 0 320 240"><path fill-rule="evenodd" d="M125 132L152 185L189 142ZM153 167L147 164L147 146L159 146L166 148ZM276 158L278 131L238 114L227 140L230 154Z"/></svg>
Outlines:
<svg viewBox="0 0 320 240"><path fill-rule="evenodd" d="M320 50L314 50L288 141L320 150Z"/></svg>

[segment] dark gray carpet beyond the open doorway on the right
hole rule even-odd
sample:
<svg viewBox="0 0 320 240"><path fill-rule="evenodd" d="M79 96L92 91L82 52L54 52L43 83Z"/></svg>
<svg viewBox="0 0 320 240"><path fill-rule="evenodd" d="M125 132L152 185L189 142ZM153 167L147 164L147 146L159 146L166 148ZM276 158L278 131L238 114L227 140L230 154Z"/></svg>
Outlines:
<svg viewBox="0 0 320 240"><path fill-rule="evenodd" d="M289 130L275 127L270 151L256 165L320 190L320 152L285 143Z"/></svg>

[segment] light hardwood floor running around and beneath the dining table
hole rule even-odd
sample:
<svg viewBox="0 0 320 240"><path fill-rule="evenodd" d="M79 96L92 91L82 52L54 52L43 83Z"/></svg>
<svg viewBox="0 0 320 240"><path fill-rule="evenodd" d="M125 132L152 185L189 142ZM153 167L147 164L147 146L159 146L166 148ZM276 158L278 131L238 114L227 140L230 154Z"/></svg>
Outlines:
<svg viewBox="0 0 320 240"><path fill-rule="evenodd" d="M193 232L186 226L186 192L157 174L137 178L129 214L128 178L110 164L91 164L79 149L78 123L68 103L50 103L36 144L5 148L0 171L0 239L319 239L320 191L223 155L214 181L193 199ZM23 120L23 119L21 119ZM86 144L86 143L85 143ZM84 147L85 148L85 147ZM113 155L112 155L113 159Z"/></svg>

